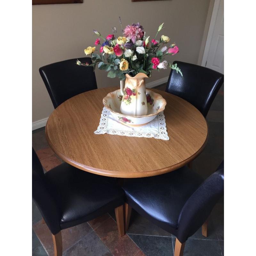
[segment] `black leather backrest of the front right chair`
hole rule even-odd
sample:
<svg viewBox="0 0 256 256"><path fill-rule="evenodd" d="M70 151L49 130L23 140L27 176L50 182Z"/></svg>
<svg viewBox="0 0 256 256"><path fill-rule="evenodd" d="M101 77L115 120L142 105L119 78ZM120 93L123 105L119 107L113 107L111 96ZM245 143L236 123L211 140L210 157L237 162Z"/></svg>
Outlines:
<svg viewBox="0 0 256 256"><path fill-rule="evenodd" d="M184 204L179 220L177 238L184 243L200 228L224 194L224 161Z"/></svg>

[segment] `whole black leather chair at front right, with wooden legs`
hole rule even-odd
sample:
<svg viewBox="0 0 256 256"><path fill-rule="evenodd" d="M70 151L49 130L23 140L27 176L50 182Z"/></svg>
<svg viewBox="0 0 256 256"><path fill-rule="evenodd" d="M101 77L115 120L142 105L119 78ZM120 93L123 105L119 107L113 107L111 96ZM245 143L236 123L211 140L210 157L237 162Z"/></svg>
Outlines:
<svg viewBox="0 0 256 256"><path fill-rule="evenodd" d="M182 256L185 242L202 225L207 236L207 219L224 193L224 161L217 171L203 180L184 166L159 176L127 179L125 230L131 207L142 216L176 236L174 256Z"/></svg>

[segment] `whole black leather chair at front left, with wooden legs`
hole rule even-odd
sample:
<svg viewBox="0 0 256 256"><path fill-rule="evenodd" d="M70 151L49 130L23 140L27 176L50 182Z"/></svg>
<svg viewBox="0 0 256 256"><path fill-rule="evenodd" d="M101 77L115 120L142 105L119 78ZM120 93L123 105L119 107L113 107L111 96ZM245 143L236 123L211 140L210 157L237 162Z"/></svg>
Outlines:
<svg viewBox="0 0 256 256"><path fill-rule="evenodd" d="M52 232L54 256L62 255L61 230L92 220L115 208L124 235L124 191L109 177L63 163L44 174L32 148L32 197Z"/></svg>

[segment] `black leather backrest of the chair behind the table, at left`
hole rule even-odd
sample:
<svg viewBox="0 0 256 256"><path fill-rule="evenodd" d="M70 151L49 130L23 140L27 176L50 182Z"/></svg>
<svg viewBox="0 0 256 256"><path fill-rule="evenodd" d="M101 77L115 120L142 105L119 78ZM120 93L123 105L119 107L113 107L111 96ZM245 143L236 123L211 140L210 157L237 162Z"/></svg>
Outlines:
<svg viewBox="0 0 256 256"><path fill-rule="evenodd" d="M91 58L79 58L92 63ZM39 68L54 108L79 93L97 89L93 67L76 65L76 59L63 60Z"/></svg>

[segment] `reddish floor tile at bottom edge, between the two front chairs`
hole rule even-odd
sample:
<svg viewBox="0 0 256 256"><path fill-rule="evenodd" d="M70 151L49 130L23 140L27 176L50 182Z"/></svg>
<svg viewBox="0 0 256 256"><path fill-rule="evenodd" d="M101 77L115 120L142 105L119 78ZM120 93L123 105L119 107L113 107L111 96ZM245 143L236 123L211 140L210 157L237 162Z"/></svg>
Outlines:
<svg viewBox="0 0 256 256"><path fill-rule="evenodd" d="M119 236L116 222L112 218L104 221L94 231L114 256L134 256L140 251L129 236Z"/></svg>

